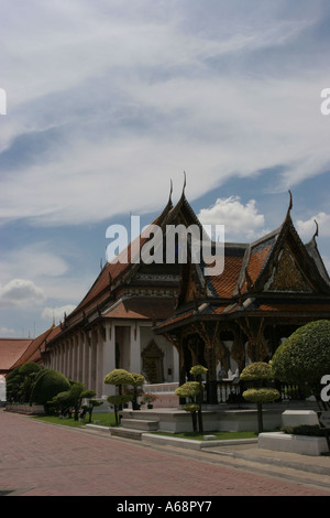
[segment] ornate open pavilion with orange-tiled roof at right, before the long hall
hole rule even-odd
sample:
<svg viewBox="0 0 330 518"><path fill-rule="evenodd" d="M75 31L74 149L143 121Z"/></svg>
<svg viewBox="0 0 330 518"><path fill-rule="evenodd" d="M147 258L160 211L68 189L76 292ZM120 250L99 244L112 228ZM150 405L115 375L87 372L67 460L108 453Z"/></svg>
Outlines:
<svg viewBox="0 0 330 518"><path fill-rule="evenodd" d="M178 350L180 385L191 366L208 368L209 403L219 402L222 380L233 387L245 365L268 361L297 327L330 317L318 229L304 245L292 208L290 195L280 227L255 242L226 242L221 274L206 276L202 261L182 266L176 310L155 332Z"/></svg>

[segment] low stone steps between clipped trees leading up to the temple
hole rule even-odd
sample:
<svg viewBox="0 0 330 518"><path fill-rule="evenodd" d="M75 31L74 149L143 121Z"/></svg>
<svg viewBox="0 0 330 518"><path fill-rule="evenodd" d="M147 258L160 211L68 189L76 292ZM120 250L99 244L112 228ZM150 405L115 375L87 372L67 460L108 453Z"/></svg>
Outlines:
<svg viewBox="0 0 330 518"><path fill-rule="evenodd" d="M160 420L150 412L124 410L121 412L122 427L110 428L111 435L141 440L142 433L158 430Z"/></svg>

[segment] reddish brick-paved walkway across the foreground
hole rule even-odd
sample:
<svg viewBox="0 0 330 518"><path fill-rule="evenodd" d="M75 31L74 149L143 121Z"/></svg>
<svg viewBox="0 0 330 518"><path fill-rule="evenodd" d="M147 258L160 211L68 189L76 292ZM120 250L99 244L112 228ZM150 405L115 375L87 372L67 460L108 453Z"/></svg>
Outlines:
<svg viewBox="0 0 330 518"><path fill-rule="evenodd" d="M329 475L263 465L232 451L152 446L2 409L0 438L0 495L330 496Z"/></svg>

